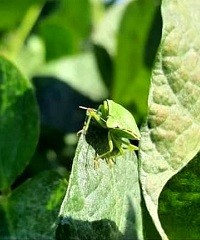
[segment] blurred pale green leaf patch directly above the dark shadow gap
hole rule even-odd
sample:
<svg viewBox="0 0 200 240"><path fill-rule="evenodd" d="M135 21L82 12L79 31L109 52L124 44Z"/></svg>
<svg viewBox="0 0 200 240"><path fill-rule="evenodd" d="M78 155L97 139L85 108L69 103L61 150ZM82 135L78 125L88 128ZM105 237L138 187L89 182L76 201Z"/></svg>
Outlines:
<svg viewBox="0 0 200 240"><path fill-rule="evenodd" d="M102 100L108 95L92 52L51 61L39 74L58 78L94 101Z"/></svg>

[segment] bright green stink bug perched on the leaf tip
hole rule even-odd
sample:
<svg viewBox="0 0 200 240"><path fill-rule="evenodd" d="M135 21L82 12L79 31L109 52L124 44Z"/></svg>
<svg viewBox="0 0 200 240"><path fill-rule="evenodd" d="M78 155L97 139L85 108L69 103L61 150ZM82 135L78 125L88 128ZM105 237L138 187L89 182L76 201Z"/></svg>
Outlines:
<svg viewBox="0 0 200 240"><path fill-rule="evenodd" d="M97 110L82 106L80 108L87 111L86 122L80 132L87 134L91 120L108 130L109 148L95 158L97 165L100 158L112 163L113 158L122 155L124 150L138 150L138 147L131 144L129 140L140 140L140 131L134 117L127 109L112 100L105 100Z"/></svg>

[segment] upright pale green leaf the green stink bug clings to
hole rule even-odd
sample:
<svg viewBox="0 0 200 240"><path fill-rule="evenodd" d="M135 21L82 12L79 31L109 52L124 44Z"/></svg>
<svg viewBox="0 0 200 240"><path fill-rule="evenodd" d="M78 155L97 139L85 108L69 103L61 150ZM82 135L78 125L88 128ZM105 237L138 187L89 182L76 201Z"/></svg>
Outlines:
<svg viewBox="0 0 200 240"><path fill-rule="evenodd" d="M95 169L95 153L106 149L107 131L80 137L57 239L143 239L137 158L127 151L114 166L99 160Z"/></svg>

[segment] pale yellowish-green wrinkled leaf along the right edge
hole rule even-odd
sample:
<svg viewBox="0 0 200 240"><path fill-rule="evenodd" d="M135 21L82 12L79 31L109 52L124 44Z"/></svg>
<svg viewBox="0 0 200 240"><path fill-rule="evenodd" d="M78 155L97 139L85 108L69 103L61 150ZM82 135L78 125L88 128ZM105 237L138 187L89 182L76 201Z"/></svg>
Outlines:
<svg viewBox="0 0 200 240"><path fill-rule="evenodd" d="M200 149L200 3L163 0L163 33L142 130L140 179L147 208L162 236L158 198L166 182Z"/></svg>

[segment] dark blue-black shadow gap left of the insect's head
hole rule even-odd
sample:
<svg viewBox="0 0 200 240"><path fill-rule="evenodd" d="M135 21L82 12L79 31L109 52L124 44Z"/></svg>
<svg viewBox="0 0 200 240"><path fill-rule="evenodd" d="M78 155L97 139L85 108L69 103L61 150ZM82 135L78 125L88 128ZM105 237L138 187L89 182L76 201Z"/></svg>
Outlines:
<svg viewBox="0 0 200 240"><path fill-rule="evenodd" d="M42 126L65 134L77 132L85 118L79 106L94 106L94 103L57 78L35 77L33 84Z"/></svg>

